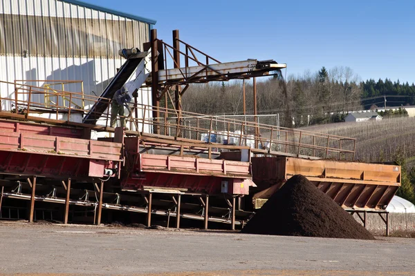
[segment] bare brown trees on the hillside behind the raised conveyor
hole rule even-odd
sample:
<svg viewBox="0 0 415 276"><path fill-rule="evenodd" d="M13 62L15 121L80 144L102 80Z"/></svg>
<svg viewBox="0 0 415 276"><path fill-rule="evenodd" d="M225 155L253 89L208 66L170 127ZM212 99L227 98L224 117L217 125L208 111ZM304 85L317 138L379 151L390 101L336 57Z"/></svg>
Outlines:
<svg viewBox="0 0 415 276"><path fill-rule="evenodd" d="M253 113L252 81L246 81L246 113ZM191 86L182 99L183 109L207 115L243 114L242 81ZM324 124L341 114L362 108L360 77L351 68L338 66L318 72L281 75L257 81L258 114L279 114L291 127ZM289 119L293 118L293 119ZM344 116L343 116L344 119Z"/></svg>

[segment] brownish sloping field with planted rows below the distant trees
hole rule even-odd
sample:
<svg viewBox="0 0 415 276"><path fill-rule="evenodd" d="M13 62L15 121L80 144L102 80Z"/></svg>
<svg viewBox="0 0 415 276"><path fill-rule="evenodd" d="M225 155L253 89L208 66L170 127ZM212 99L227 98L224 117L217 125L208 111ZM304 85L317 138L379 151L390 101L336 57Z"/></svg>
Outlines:
<svg viewBox="0 0 415 276"><path fill-rule="evenodd" d="M405 155L407 165L415 166L414 117L362 123L326 124L302 129L356 138L356 159L361 161L375 162L381 161L381 159L393 161L392 156L396 150L400 149Z"/></svg>

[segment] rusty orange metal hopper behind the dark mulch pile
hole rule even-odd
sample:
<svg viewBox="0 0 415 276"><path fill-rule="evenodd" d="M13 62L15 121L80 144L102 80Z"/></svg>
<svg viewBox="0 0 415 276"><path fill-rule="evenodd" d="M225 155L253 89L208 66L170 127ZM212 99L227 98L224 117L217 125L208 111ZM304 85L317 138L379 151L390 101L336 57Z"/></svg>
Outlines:
<svg viewBox="0 0 415 276"><path fill-rule="evenodd" d="M400 186L400 166L295 157L252 157L260 208L293 175L304 175L344 209L385 210ZM265 199L265 200L264 200Z"/></svg>

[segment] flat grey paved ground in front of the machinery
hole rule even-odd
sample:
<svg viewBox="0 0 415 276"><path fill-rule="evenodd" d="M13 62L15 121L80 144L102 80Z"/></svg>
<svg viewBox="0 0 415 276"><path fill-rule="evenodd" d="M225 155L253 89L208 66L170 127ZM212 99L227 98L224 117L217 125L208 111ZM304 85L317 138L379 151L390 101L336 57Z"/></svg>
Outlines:
<svg viewBox="0 0 415 276"><path fill-rule="evenodd" d="M376 241L0 221L0 274L414 275L415 239Z"/></svg>

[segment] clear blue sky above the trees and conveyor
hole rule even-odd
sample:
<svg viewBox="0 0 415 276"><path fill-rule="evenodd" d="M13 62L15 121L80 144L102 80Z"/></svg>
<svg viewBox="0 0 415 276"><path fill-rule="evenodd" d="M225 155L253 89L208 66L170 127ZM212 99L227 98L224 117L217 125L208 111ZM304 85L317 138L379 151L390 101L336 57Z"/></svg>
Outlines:
<svg viewBox="0 0 415 276"><path fill-rule="evenodd" d="M275 59L287 75L349 66L362 79L415 82L415 1L83 1L156 19L160 39L178 29L222 62Z"/></svg>

